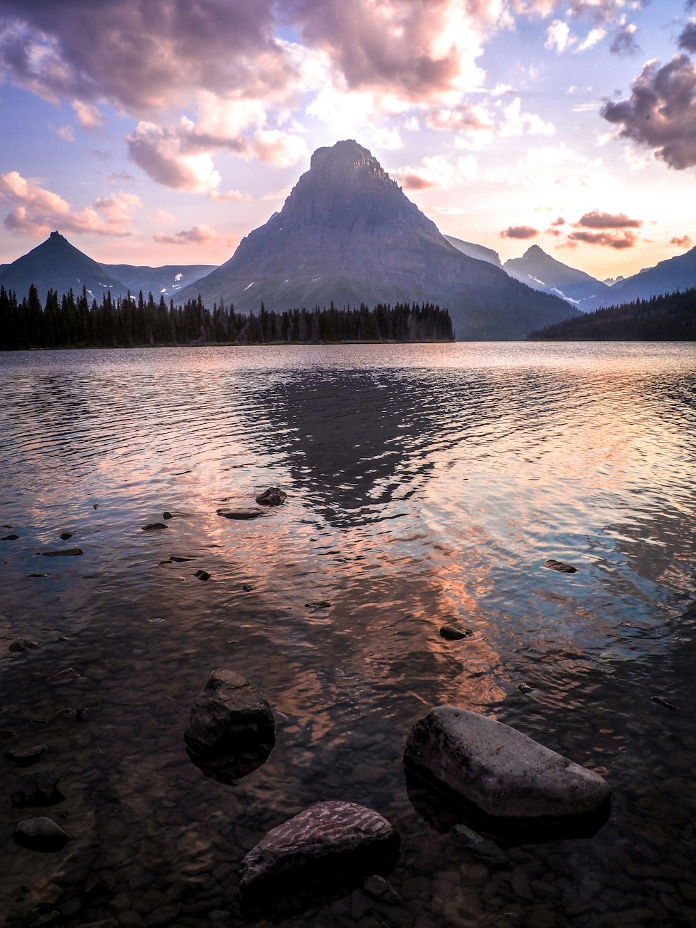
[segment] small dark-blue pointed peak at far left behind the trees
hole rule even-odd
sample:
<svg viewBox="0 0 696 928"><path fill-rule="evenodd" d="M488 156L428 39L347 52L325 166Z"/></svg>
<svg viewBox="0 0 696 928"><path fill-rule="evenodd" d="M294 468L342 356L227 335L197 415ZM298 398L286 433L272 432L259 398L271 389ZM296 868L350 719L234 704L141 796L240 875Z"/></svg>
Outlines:
<svg viewBox="0 0 696 928"><path fill-rule="evenodd" d="M71 288L78 293L84 286L97 300L101 300L105 290L112 293L122 291L119 280L111 277L100 264L76 249L58 232L51 232L41 245L12 264L6 264L0 270L0 284L6 290L14 290L19 300L26 296L32 284L42 301L51 289L62 295Z"/></svg>

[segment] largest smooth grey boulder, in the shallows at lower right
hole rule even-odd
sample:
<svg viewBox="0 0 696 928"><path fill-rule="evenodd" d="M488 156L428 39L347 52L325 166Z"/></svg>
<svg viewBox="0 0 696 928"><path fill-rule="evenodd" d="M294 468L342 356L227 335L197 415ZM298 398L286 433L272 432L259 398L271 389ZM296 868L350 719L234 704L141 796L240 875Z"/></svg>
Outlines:
<svg viewBox="0 0 696 928"><path fill-rule="evenodd" d="M495 818L585 817L612 797L599 774L515 728L453 705L437 706L417 722L404 763Z"/></svg>

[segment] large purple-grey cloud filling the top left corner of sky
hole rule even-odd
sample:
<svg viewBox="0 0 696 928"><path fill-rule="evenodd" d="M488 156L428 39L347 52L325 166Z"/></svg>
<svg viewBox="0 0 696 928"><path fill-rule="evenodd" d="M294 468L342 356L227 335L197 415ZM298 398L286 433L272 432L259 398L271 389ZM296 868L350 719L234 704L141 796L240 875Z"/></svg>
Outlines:
<svg viewBox="0 0 696 928"><path fill-rule="evenodd" d="M4 0L0 60L47 99L104 99L148 116L199 89L282 93L292 65L272 0Z"/></svg>

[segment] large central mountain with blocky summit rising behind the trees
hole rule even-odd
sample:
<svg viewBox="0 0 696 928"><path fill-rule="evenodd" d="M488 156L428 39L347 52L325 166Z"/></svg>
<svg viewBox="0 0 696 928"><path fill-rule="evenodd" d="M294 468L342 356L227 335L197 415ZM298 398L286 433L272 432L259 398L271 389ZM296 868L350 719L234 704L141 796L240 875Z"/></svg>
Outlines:
<svg viewBox="0 0 696 928"><path fill-rule="evenodd" d="M454 248L352 139L318 148L280 213L178 299L199 292L241 312L432 301L459 339L518 339L576 312Z"/></svg>

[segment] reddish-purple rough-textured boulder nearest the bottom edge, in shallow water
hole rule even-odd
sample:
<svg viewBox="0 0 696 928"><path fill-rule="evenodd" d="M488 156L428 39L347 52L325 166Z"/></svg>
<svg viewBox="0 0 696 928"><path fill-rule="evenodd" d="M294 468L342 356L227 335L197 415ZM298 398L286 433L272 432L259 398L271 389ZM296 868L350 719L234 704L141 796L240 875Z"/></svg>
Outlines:
<svg viewBox="0 0 696 928"><path fill-rule="evenodd" d="M296 887L372 867L390 857L400 839L379 812L355 803L316 803L271 829L239 869L239 892Z"/></svg>

